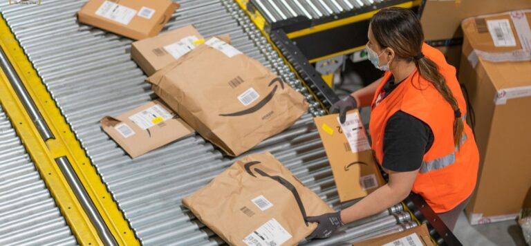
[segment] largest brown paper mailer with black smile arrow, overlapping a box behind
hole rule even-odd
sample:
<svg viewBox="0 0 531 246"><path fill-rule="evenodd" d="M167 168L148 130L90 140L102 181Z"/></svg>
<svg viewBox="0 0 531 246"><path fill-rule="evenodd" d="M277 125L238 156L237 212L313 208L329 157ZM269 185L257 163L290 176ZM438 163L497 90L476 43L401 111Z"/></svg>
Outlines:
<svg viewBox="0 0 531 246"><path fill-rule="evenodd" d="M216 37L147 81L203 138L232 156L288 128L308 109L277 75Z"/></svg>

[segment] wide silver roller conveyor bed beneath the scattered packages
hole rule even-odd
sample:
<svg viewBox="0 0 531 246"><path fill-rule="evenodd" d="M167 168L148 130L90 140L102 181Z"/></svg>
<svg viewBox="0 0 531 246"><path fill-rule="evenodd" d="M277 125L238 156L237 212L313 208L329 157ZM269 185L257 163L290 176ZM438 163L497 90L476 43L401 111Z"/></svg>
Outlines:
<svg viewBox="0 0 531 246"><path fill-rule="evenodd" d="M234 160L199 135L131 160L100 129L104 115L118 115L155 95L129 55L131 40L79 25L75 12L86 1L48 0L39 8L0 5L4 19L32 61L57 106L97 168L107 189L145 245L220 245L180 199L206 185ZM231 0L179 1L165 30L194 24L205 37L229 33L232 44L279 74L310 102L309 113L253 151L271 151L329 205L339 200L312 116L325 112L244 12ZM57 3L57 4L55 4ZM35 28L38 19L44 26ZM343 205L345 206L345 205ZM400 205L349 225L337 236L310 243L339 244L415 226Z"/></svg>

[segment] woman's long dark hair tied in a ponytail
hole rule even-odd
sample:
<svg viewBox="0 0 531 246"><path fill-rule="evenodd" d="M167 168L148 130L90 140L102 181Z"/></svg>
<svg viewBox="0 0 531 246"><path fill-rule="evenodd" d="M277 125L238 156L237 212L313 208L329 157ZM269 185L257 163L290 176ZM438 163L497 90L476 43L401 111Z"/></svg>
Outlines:
<svg viewBox="0 0 531 246"><path fill-rule="evenodd" d="M371 19L373 35L381 48L393 48L395 57L415 61L420 76L427 79L435 86L437 91L458 111L459 105L456 97L448 88L445 77L439 73L437 64L427 57L418 56L422 52L424 33L420 21L407 8L385 8L376 13ZM420 58L420 59L415 59ZM456 117L454 120L454 143L460 146L463 135L463 120Z"/></svg>

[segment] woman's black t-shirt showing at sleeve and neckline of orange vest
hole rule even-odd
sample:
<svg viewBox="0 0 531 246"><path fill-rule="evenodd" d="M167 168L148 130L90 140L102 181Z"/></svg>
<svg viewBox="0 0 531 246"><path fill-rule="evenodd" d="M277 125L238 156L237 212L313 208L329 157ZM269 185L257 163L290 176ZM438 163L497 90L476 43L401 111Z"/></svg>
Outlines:
<svg viewBox="0 0 531 246"><path fill-rule="evenodd" d="M396 86L391 76L384 86L384 95L389 95ZM433 143L434 133L425 122L397 111L389 117L385 126L382 167L391 171L419 169L422 158Z"/></svg>

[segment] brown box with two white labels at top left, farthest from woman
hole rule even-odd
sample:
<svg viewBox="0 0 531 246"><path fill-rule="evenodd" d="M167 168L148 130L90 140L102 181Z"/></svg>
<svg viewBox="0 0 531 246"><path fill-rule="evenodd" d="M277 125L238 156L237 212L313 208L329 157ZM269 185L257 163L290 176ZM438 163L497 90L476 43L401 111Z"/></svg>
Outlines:
<svg viewBox="0 0 531 246"><path fill-rule="evenodd" d="M86 23L131 39L154 37L179 8L169 0L91 0L77 12Z"/></svg>

